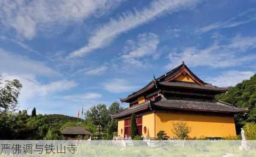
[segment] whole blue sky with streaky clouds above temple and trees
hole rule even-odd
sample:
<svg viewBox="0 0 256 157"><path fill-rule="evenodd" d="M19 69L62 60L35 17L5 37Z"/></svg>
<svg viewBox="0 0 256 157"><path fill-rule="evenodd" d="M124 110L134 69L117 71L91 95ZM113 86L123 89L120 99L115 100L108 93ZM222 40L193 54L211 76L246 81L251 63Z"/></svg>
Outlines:
<svg viewBox="0 0 256 157"><path fill-rule="evenodd" d="M76 116L182 61L236 85L256 71L255 28L254 0L1 0L0 75L23 84L20 109Z"/></svg>

